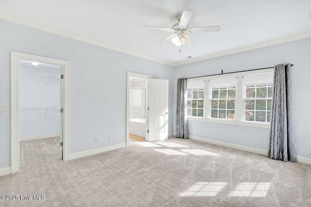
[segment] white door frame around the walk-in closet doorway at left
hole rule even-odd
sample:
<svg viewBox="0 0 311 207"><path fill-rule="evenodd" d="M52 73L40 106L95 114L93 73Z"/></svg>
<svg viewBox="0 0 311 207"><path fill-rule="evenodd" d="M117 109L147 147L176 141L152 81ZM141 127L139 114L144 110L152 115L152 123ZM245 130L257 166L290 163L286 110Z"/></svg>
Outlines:
<svg viewBox="0 0 311 207"><path fill-rule="evenodd" d="M19 60L63 66L63 160L69 160L70 62L11 51L11 174L19 171Z"/></svg>

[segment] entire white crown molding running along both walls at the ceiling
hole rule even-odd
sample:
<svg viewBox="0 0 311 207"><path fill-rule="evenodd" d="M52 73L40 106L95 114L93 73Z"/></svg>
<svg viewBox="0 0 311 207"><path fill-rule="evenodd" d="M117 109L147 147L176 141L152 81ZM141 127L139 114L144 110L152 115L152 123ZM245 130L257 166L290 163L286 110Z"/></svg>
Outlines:
<svg viewBox="0 0 311 207"><path fill-rule="evenodd" d="M304 33L300 33L300 34L295 34L292 36L288 36L288 37L283 37L283 38L279 38L279 39L275 39L275 40L271 40L268 42L263 42L263 43L259 43L256 45L250 45L250 46L246 46L246 47L242 47L242 48L236 48L236 49L232 49L232 50L227 50L224 52L219 52L219 53L215 53L215 54L210 54L210 55L205 55L199 58L195 58L195 59L191 59L191 60L187 60L187 61L183 61L183 62L178 62L178 63L170 63L170 62L166 62L160 59L156 59L154 57L148 56L148 55L144 55L132 50L127 50L124 48L119 48L117 46L114 45L110 45L108 43L104 43L101 41L95 41L95 40L91 40L91 39L87 39L85 37L82 36L78 36L75 34L71 34L69 32L63 32L60 30L56 30L56 29L52 29L50 27L46 27L40 24L36 24L34 22L31 22L29 19L25 19L25 18L19 18L19 17L14 17L14 16L10 16L10 15L6 15L3 13L0 13L0 19L9 21L9 22L13 22L16 24L20 24L26 27L31 27L34 28L36 30L40 30L40 31L44 31L44 32L49 32L52 34L56 34L59 36L63 36L63 37L67 37L69 39L74 39L80 42L85 42L91 45L95 45L101 48L106 48L106 49L111 49L117 52L121 52L127 55L132 55L138 58L142 58L145 60L149 60L149 61L153 61L156 63L160 63L160 64L166 64L166 65L170 65L173 67L176 66L180 66L180 65L184 65L184 64L190 64L190 63L195 63L195 62L200 62L200 61L204 61L204 60L209 60L212 58L218 58L218 57L223 57L226 55L232 55L232 54L236 54L236 53L240 53L240 52L246 52L246 51L250 51L250 50L254 50L254 49L259 49L259 48L265 48L265 47L270 47L270 46L274 46L274 45L279 45L279 44L283 44L283 43L288 43L288 42L293 42L293 41L297 41L297 40L302 40L302 39L307 39L311 37L311 31L310 32L304 32Z"/></svg>

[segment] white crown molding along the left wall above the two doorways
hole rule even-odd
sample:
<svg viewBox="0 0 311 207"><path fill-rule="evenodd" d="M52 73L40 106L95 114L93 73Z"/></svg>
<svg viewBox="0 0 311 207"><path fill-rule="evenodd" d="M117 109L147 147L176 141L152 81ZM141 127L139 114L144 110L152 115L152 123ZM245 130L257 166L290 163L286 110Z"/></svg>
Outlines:
<svg viewBox="0 0 311 207"><path fill-rule="evenodd" d="M169 62L166 62L166 61L162 61L162 60L156 59L156 58L148 56L148 55L144 55L144 54L141 54L141 53L138 53L138 52L135 52L135 51L132 51L132 50L127 50L127 49L124 49L124 48L119 48L117 46L110 45L108 43L104 43L104 42L101 42L101 41L87 39L85 37L82 37L82 36L79 36L79 35L75 35L75 34L71 34L69 32L63 32L61 30L56 30L56 29L53 29L53 28L50 28L50 27L46 27L46 26L43 26L43 25L40 25L40 24L36 24L34 22L31 22L29 19L19 18L19 17L15 17L15 16L10 16L10 15L6 15L6 14L3 14L3 13L0 13L0 19L3 19L5 21L9 21L9 22L13 22L13 23L16 23L16 24L20 24L20 25L23 25L23 26L26 26L26 27L30 27L30 28L33 28L33 29L36 29L36 30L40 30L40 31L43 31L43 32L49 32L49 33L56 34L56 35L59 35L59 36L67 37L69 39L73 39L73 40L77 40L77 41L80 41L80 42L84 42L84 43L88 43L88 44L91 44L91 45L95 45L95 46L98 46L98 47L101 47L101 48L106 48L106 49L114 50L114 51L121 52L121 53L124 53L124 54L127 54L127 55L132 55L132 56L135 56L135 57L138 57L138 58L142 58L142 59L146 59L146 60L149 60L149 61L153 61L153 62L156 62L156 63L173 66L172 63L169 63Z"/></svg>

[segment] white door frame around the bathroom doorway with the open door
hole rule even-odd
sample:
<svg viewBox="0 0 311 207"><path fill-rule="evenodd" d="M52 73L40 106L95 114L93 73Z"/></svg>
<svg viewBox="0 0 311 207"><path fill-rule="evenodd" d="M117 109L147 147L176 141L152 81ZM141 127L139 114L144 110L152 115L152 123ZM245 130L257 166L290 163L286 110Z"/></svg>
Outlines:
<svg viewBox="0 0 311 207"><path fill-rule="evenodd" d="M130 133L130 77L131 76L134 76L134 77L138 77L138 78L143 78L143 79L146 79L147 80L147 85L146 85L146 96L145 96L145 99L146 99L146 102L145 102L145 118L146 118L146 129L147 129L147 126L148 126L148 94L149 94L149 88L148 88L148 79L151 79L151 76L150 75L145 75L145 74L139 74L139 73L132 73L132 72L127 72L127 88L126 88L126 146L129 146L130 145L130 136L129 136L129 133ZM146 140L148 138L146 137Z"/></svg>

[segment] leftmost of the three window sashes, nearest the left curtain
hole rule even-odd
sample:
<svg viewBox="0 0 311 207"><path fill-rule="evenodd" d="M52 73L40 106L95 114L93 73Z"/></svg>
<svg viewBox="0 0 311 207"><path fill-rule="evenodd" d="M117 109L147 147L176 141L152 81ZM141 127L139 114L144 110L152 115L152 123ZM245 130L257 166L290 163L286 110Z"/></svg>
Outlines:
<svg viewBox="0 0 311 207"><path fill-rule="evenodd" d="M204 115L204 81L189 82L187 91L187 116Z"/></svg>

